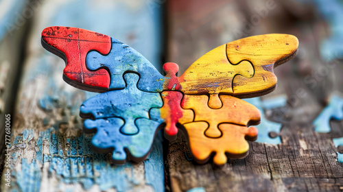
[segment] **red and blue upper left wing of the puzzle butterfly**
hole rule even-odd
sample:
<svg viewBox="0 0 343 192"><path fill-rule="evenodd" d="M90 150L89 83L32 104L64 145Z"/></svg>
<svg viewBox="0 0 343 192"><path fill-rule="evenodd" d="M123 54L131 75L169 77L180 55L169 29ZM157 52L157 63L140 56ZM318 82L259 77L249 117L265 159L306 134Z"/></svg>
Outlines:
<svg viewBox="0 0 343 192"><path fill-rule="evenodd" d="M163 91L165 78L138 51L115 38L75 27L47 27L42 45L64 59L63 79L86 91L125 88L123 74L139 73L141 91Z"/></svg>

